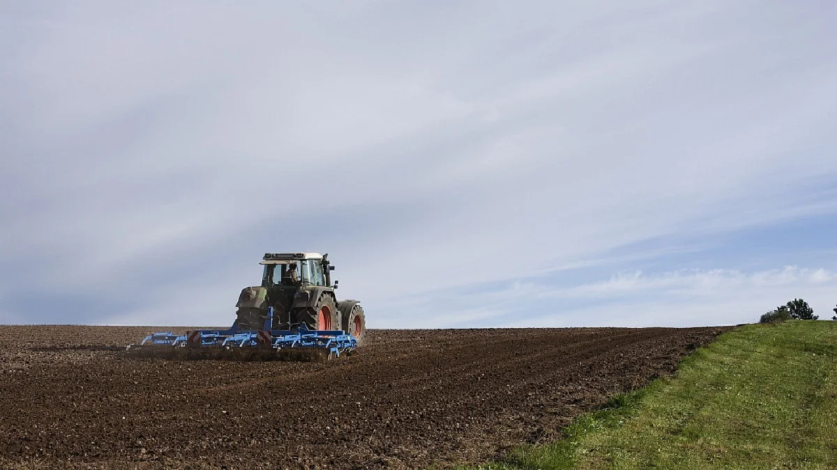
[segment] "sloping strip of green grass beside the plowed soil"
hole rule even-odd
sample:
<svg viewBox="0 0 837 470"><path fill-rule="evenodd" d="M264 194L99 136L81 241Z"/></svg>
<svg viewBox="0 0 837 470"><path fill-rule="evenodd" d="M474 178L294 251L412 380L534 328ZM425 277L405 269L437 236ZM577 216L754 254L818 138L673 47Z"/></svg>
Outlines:
<svg viewBox="0 0 837 470"><path fill-rule="evenodd" d="M751 324L481 470L837 468L837 322Z"/></svg>

